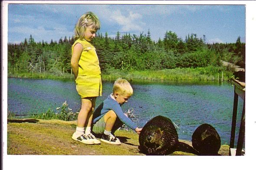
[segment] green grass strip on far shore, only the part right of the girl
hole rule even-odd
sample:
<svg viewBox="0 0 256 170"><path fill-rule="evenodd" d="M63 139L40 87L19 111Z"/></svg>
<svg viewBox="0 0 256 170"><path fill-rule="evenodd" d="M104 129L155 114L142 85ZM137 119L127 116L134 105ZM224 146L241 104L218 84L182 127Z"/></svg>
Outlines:
<svg viewBox="0 0 256 170"><path fill-rule="evenodd" d="M175 68L160 71L120 71L108 70L102 75L103 80L114 81L118 77L125 78L129 81L217 81L219 73L219 81L221 81L222 71L219 67L199 67L199 68ZM223 72L223 80L228 80L230 73Z"/></svg>

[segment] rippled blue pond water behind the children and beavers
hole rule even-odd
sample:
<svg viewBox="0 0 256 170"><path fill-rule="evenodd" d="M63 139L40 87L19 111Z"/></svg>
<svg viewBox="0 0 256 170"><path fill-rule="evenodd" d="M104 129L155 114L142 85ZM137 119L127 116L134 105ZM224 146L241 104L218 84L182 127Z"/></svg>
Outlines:
<svg viewBox="0 0 256 170"><path fill-rule="evenodd" d="M195 129L208 123L216 128L222 144L229 144L233 112L233 90L230 83L131 83L134 95L125 103L123 111L134 109L134 121L143 127L150 119L163 115L177 125L179 139L191 141ZM75 82L8 78L8 111L16 115L30 115L56 111L67 101L69 108L79 112L80 97ZM98 106L110 93L112 83L103 82L103 95ZM238 101L237 127L240 125L243 100ZM238 138L236 128L236 140Z"/></svg>

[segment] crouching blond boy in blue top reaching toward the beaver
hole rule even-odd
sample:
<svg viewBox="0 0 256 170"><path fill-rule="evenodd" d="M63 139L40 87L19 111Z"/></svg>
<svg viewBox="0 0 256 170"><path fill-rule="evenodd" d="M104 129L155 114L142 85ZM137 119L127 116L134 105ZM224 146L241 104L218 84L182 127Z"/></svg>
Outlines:
<svg viewBox="0 0 256 170"><path fill-rule="evenodd" d="M114 132L123 124L140 134L142 128L138 128L121 109L121 105L128 102L132 94L131 84L127 80L119 78L113 85L113 93L95 109L92 131L103 134L101 141L109 144L121 144Z"/></svg>

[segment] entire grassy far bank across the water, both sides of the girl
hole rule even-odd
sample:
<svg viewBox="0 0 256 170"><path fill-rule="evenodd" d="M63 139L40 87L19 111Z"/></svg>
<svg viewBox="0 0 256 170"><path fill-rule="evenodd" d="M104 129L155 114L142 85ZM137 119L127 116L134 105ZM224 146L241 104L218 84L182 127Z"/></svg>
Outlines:
<svg viewBox="0 0 256 170"><path fill-rule="evenodd" d="M133 82L159 82L159 81L221 81L222 67L198 67L198 68L175 68L160 71L123 71L108 69L102 72L103 81L114 81L122 77ZM232 73L223 71L223 80L228 80ZM219 79L218 79L219 76ZM21 73L8 72L8 77L53 79L53 80L74 80L72 74L51 74L51 73Z"/></svg>

